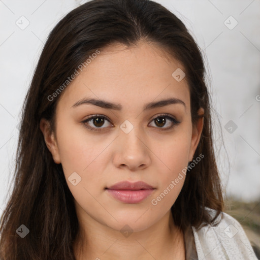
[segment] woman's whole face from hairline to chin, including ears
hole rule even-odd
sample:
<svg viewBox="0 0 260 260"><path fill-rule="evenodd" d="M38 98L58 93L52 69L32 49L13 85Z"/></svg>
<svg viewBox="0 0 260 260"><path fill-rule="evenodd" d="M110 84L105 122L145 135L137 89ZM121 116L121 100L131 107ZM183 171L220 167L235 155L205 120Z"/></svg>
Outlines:
<svg viewBox="0 0 260 260"><path fill-rule="evenodd" d="M82 220L118 231L125 224L147 229L169 213L183 186L203 121L192 128L184 68L158 48L140 43L102 50L63 90L56 139L41 122ZM111 187L122 181L130 187ZM138 181L150 188L131 190Z"/></svg>

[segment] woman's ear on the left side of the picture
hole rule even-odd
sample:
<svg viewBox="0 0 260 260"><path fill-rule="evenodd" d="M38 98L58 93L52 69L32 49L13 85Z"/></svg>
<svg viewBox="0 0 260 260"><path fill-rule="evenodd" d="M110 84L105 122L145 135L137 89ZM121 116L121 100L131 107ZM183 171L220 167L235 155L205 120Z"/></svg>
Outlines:
<svg viewBox="0 0 260 260"><path fill-rule="evenodd" d="M56 164L60 164L60 156L57 146L57 141L54 137L54 133L50 130L50 122L45 118L42 118L40 121L40 129L43 133L44 140L47 148L52 154L52 158Z"/></svg>

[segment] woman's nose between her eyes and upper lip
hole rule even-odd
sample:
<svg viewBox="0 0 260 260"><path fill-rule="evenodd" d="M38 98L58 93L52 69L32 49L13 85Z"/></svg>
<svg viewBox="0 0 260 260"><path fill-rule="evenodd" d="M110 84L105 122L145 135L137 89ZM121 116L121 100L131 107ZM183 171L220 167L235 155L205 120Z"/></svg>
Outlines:
<svg viewBox="0 0 260 260"><path fill-rule="evenodd" d="M116 140L113 163L117 168L131 171L143 170L151 164L151 150L147 139L136 127L125 134L120 130Z"/></svg>

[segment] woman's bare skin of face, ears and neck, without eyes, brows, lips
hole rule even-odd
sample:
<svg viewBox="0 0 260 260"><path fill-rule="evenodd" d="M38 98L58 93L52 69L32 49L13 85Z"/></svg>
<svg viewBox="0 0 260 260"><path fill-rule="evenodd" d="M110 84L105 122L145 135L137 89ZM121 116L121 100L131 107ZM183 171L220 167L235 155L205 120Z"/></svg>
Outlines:
<svg viewBox="0 0 260 260"><path fill-rule="evenodd" d="M140 42L136 47L111 45L91 61L62 92L56 110L56 131L40 122L46 145L56 164L61 164L75 199L80 234L74 244L76 259L184 259L182 232L174 224L171 206L178 197L184 178L156 206L151 204L191 161L198 146L203 118L192 126L189 89L185 78L177 82L172 73L181 68L177 60L165 58L158 46ZM168 55L169 57L169 55ZM145 104L167 98L185 103L143 111ZM82 98L98 98L121 104L116 111L84 104L72 108ZM161 113L174 117L160 127ZM203 113L203 109L198 111ZM110 120L101 131L93 120L100 114ZM134 126L125 134L120 125ZM76 185L68 180L81 177ZM155 187L141 203L126 204L112 198L105 187L119 181L144 181ZM120 232L127 224L133 233ZM80 250L82 245L82 250Z"/></svg>

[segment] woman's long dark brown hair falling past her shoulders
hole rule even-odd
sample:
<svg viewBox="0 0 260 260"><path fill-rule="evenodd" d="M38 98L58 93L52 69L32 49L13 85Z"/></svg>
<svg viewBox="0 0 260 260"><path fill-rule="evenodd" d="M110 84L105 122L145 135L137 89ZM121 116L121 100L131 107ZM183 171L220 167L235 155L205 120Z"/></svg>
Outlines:
<svg viewBox="0 0 260 260"><path fill-rule="evenodd" d="M204 126L194 157L205 156L187 173L172 206L175 223L185 231L213 223L223 210L221 185L212 143L209 94L202 55L187 28L172 12L147 0L93 0L74 9L51 31L41 53L22 111L16 152L14 188L1 218L0 258L75 259L73 242L78 234L74 198L48 150L39 123L55 129L55 109L60 95L51 95L96 49L113 43L127 47L140 40L164 48L185 68L190 89L192 122L203 108ZM66 91L66 90L63 90ZM205 207L216 210L212 219ZM29 234L21 238L21 224Z"/></svg>

